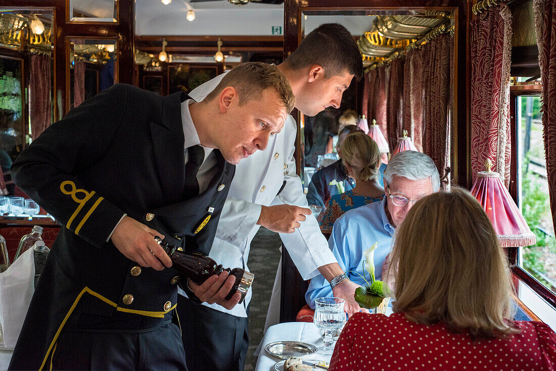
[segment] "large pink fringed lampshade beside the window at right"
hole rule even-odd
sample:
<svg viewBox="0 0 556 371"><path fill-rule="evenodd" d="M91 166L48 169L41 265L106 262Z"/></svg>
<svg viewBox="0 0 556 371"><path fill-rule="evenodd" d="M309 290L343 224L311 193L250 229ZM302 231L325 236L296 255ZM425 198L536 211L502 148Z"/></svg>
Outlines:
<svg viewBox="0 0 556 371"><path fill-rule="evenodd" d="M492 165L489 165L489 171L477 174L471 194L483 206L503 248L534 245L537 241L535 235L500 180L500 174L490 171Z"/></svg>

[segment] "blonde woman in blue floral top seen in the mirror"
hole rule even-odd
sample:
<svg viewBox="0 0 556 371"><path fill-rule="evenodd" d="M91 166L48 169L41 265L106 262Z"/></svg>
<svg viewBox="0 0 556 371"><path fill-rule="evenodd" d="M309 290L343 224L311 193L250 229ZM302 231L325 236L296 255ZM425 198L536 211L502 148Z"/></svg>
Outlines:
<svg viewBox="0 0 556 371"><path fill-rule="evenodd" d="M326 211L319 217L321 231L330 233L336 219L347 210L381 201L384 188L378 182L380 167L379 147L363 132L348 135L340 146L342 163L347 175L355 180L355 188L332 195L326 202Z"/></svg>

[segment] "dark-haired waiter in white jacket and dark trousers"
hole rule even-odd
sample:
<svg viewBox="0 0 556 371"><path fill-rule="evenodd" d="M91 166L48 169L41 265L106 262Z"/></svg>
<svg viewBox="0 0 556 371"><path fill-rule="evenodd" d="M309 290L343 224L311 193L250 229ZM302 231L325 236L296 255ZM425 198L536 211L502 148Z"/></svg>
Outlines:
<svg viewBox="0 0 556 371"><path fill-rule="evenodd" d="M307 34L278 68L290 82L295 107L307 116L329 106L338 108L353 77L363 75L357 44L347 29L335 23L322 24ZM221 78L213 78L189 95L196 101L203 100ZM262 130L266 122L264 117L260 120ZM265 151L256 151L236 166L210 256L225 268L239 266L247 270L251 240L264 226L280 233L303 279L322 274L335 286L334 295L346 300L346 311L359 311L353 299L358 285L346 279L337 264L296 175L296 133L290 115L282 131L271 135ZM226 273L213 276L200 286L190 282L197 298L178 295L177 310L190 371L244 368L251 290L242 304L232 308L232 303L224 299L227 293L219 290L226 277ZM203 304L196 304L200 301Z"/></svg>

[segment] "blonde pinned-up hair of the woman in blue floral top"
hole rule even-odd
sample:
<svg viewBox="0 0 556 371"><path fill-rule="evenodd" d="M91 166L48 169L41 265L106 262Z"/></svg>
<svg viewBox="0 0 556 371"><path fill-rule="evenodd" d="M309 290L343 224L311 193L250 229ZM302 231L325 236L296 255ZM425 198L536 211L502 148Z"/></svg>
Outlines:
<svg viewBox="0 0 556 371"><path fill-rule="evenodd" d="M347 163L359 179L376 180L380 167L379 146L363 131L351 133L340 146L342 162Z"/></svg>

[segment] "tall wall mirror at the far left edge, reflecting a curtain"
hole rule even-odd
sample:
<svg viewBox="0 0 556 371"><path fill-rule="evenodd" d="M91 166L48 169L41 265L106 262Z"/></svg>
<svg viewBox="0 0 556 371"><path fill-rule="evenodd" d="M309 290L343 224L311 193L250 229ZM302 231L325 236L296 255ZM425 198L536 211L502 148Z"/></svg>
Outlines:
<svg viewBox="0 0 556 371"><path fill-rule="evenodd" d="M0 12L0 165L2 194L13 194L13 160L53 120L53 15L44 9Z"/></svg>

